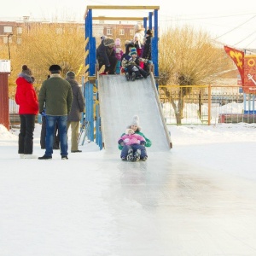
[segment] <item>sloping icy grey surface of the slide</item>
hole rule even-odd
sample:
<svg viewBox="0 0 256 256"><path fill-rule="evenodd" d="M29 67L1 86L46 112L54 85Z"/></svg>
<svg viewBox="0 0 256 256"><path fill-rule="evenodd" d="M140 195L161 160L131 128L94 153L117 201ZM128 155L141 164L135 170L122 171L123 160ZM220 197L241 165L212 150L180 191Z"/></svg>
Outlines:
<svg viewBox="0 0 256 256"><path fill-rule="evenodd" d="M152 73L148 79L127 81L124 75L100 75L98 79L102 142L108 152L119 151L118 140L134 115L143 134L152 141L148 151L168 151L171 138L166 127Z"/></svg>

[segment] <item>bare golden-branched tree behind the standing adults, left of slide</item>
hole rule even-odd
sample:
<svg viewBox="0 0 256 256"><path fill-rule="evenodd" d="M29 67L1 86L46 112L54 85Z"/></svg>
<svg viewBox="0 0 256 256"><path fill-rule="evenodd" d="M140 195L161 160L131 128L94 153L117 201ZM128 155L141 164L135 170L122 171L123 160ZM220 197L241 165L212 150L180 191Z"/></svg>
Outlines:
<svg viewBox="0 0 256 256"><path fill-rule="evenodd" d="M84 27L78 23L33 22L24 27L21 44L12 55L13 71L10 83L15 83L23 64L32 69L35 86L39 89L49 74L49 66L61 66L61 75L73 71L84 75Z"/></svg>

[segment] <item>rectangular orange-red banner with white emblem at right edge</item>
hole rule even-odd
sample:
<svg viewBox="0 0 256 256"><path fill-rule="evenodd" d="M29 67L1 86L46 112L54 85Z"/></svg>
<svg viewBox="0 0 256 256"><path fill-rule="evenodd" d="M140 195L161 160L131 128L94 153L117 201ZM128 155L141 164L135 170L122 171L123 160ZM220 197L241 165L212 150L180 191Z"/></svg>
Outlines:
<svg viewBox="0 0 256 256"><path fill-rule="evenodd" d="M244 56L244 83L245 93L256 94L256 55Z"/></svg>

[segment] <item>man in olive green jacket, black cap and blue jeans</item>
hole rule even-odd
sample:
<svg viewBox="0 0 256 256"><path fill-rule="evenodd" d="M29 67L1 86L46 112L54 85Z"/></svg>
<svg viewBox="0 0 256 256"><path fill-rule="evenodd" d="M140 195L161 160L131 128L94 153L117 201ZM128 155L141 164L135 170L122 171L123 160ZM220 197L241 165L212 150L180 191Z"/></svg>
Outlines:
<svg viewBox="0 0 256 256"><path fill-rule="evenodd" d="M45 107L46 138L45 154L39 160L52 159L55 125L60 132L61 160L67 160L67 114L70 113L73 93L70 84L61 78L61 67L49 67L50 78L45 80L39 91L39 112Z"/></svg>

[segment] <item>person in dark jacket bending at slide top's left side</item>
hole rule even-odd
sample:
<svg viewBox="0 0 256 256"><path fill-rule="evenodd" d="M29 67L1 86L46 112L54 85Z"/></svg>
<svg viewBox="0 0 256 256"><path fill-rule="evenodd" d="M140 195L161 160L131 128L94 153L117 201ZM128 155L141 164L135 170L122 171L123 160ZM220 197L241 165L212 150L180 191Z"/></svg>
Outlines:
<svg viewBox="0 0 256 256"><path fill-rule="evenodd" d="M96 59L99 63L99 70L105 65L104 72L102 74L114 74L117 64L117 58L115 51L113 38L104 38L102 43L96 49Z"/></svg>

